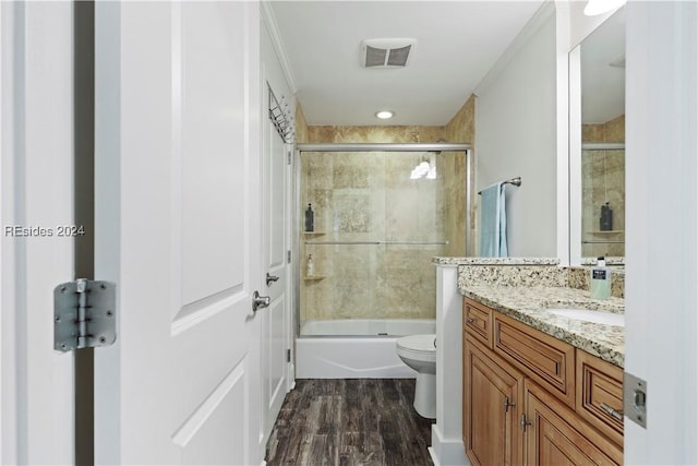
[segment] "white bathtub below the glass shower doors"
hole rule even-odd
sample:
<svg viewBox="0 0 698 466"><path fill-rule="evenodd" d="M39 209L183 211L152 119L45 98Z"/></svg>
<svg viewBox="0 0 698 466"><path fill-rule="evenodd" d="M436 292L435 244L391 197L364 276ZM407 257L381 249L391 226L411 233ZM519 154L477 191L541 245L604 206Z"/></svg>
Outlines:
<svg viewBox="0 0 698 466"><path fill-rule="evenodd" d="M420 333L436 333L435 320L306 321L296 339L296 378L413 379L417 372L397 356L395 342Z"/></svg>

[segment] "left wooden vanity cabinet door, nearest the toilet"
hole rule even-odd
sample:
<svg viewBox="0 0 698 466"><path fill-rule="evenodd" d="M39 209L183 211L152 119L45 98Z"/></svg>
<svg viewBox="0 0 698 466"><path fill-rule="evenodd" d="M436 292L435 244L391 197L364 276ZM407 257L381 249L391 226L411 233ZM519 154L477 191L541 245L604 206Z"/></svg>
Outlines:
<svg viewBox="0 0 698 466"><path fill-rule="evenodd" d="M518 465L524 459L516 421L524 375L469 337L464 354L464 443L473 465Z"/></svg>

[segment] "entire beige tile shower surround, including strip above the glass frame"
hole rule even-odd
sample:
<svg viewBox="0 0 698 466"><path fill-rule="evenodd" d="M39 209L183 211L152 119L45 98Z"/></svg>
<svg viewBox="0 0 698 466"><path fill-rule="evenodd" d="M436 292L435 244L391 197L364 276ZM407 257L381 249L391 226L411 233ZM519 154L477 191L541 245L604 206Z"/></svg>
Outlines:
<svg viewBox="0 0 698 466"><path fill-rule="evenodd" d="M296 115L299 143L471 142L474 98L447 127L312 127ZM410 180L429 154L303 153L303 210L315 211L315 232L301 234L301 321L433 319L434 255L466 255L465 155L435 155L435 180ZM301 213L302 220L302 213ZM302 228L302 225L299 226ZM356 241L443 244L318 244ZM315 242L313 244L313 242ZM305 274L309 254L313 276Z"/></svg>

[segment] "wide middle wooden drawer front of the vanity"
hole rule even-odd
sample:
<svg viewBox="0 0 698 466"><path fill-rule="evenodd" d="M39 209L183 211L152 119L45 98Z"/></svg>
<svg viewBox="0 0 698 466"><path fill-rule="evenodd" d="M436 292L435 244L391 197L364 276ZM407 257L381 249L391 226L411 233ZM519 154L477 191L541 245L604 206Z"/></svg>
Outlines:
<svg viewBox="0 0 698 466"><path fill-rule="evenodd" d="M494 351L575 408L575 348L496 313Z"/></svg>

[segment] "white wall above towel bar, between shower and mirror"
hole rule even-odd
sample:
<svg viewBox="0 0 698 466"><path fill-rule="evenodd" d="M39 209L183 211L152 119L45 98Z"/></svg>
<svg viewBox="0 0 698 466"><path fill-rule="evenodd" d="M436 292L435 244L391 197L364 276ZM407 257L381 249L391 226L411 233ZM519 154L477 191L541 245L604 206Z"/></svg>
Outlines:
<svg viewBox="0 0 698 466"><path fill-rule="evenodd" d="M477 189L520 176L507 187L512 256L555 256L555 16L547 14L505 68L478 89Z"/></svg>

